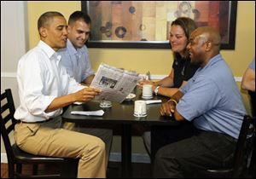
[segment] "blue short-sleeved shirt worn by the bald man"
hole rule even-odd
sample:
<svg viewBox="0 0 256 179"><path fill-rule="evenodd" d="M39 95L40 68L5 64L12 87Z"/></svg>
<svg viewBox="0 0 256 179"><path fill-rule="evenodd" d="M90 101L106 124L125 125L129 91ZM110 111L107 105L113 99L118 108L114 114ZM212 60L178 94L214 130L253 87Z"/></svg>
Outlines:
<svg viewBox="0 0 256 179"><path fill-rule="evenodd" d="M177 112L199 130L215 131L239 136L246 114L236 81L221 55L214 56L207 66L199 68L177 104Z"/></svg>

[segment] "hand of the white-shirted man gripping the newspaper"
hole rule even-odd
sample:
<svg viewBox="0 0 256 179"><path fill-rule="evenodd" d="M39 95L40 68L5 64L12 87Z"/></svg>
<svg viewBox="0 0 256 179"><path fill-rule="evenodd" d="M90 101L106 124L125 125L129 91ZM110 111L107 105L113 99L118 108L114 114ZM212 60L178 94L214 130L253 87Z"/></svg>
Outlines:
<svg viewBox="0 0 256 179"><path fill-rule="evenodd" d="M93 88L84 88L83 90L79 90L74 94L76 98L75 101L79 101L79 102L90 101L93 98L95 98L96 95L99 95L101 92L102 90L93 89Z"/></svg>

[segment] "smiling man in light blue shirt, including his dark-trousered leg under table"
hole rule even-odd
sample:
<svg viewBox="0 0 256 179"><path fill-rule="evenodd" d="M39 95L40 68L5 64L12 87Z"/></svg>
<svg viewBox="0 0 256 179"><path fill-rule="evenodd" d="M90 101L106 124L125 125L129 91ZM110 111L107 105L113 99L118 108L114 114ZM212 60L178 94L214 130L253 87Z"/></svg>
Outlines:
<svg viewBox="0 0 256 179"><path fill-rule="evenodd" d="M61 55L61 66L66 67L69 76L75 78L79 84L88 86L95 76L90 66L88 49L84 45L90 37L90 25L91 20L88 14L84 14L82 11L73 12L68 20L67 48L58 51L58 54ZM66 123L64 126L69 130L73 130L74 124ZM78 129L85 134L100 137L106 144L108 159L112 145L113 131L110 129L99 129L95 125L84 126L82 124L79 124Z"/></svg>

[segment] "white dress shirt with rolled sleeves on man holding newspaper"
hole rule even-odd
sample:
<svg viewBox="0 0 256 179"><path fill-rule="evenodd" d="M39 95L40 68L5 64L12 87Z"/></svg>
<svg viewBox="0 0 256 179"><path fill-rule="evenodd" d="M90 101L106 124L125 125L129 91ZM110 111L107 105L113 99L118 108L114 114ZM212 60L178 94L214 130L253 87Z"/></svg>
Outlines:
<svg viewBox="0 0 256 179"><path fill-rule="evenodd" d="M54 118L62 109L45 113L49 104L56 97L84 88L69 77L60 61L61 55L43 41L21 57L17 69L20 106L15 111L16 119L38 122Z"/></svg>

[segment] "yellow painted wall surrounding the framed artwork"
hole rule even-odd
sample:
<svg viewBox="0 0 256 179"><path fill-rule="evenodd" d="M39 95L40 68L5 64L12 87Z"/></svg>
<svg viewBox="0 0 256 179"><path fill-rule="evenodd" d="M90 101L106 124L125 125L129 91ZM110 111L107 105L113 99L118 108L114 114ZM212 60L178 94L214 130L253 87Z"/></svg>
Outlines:
<svg viewBox="0 0 256 179"><path fill-rule="evenodd" d="M37 20L45 11L57 10L68 18L74 10L80 10L76 2L28 2L29 46L38 43ZM241 77L255 55L255 2L238 2L236 19L236 49L222 50L234 76ZM166 75L172 66L171 49L90 49L90 61L96 70L101 63L128 70Z"/></svg>

